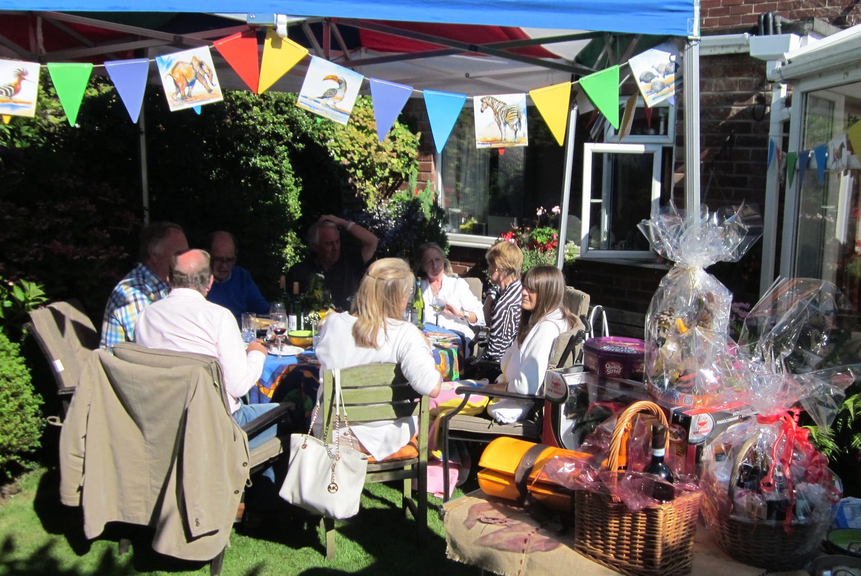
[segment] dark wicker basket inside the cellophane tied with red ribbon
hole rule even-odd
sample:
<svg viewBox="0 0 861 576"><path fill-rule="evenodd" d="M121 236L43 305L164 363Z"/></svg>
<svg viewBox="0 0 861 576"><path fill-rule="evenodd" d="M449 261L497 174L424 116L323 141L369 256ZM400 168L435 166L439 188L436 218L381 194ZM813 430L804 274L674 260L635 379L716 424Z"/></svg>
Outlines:
<svg viewBox="0 0 861 576"><path fill-rule="evenodd" d="M748 439L735 456L733 474L729 479L729 502L734 498L734 487L739 468L748 450L758 440ZM709 515L711 516L711 515ZM793 522L790 531L782 522L714 515L712 528L717 545L729 556L751 566L774 571L794 570L813 560L818 543L827 533L827 523L799 524Z"/></svg>

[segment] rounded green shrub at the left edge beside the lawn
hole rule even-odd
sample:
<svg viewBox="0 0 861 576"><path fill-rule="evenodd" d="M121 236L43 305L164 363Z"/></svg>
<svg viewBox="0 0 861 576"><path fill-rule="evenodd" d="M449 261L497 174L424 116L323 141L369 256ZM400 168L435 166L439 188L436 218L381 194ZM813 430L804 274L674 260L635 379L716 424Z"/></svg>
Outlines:
<svg viewBox="0 0 861 576"><path fill-rule="evenodd" d="M12 465L29 466L27 456L40 447L40 404L18 345L0 332L0 474L8 477Z"/></svg>

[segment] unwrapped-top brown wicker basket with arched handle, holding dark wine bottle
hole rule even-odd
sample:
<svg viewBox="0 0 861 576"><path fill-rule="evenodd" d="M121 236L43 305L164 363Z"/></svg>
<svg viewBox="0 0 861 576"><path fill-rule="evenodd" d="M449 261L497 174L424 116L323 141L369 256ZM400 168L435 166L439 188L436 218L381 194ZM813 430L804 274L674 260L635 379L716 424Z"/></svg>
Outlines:
<svg viewBox="0 0 861 576"><path fill-rule="evenodd" d="M616 470L625 426L641 411L666 424L657 404L631 404L613 430L609 470ZM636 512L604 491L578 490L574 498L574 549L586 558L629 576L691 572L700 492L685 492L672 502Z"/></svg>

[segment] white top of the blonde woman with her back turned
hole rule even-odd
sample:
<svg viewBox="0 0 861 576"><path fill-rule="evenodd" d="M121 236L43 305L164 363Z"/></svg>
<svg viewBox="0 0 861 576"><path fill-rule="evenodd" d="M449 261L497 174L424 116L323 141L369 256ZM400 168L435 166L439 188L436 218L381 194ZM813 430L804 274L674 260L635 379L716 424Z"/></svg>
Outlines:
<svg viewBox="0 0 861 576"><path fill-rule="evenodd" d="M330 314L320 328L320 341L317 345L317 359L320 361L320 374L329 368L349 368L374 362L393 362L400 365L412 389L427 396L437 387L440 374L434 364L431 347L421 331L409 322L390 319L387 333L380 330L377 335L379 348L359 347L353 339L353 325L356 316L347 312ZM321 380L322 381L322 380ZM318 399L323 394L320 388ZM350 416L349 413L347 415ZM319 418L315 423L315 434L319 436ZM369 453L382 460L406 446L418 430L418 419L400 418L399 420L379 423L350 425L353 435L362 442Z"/></svg>

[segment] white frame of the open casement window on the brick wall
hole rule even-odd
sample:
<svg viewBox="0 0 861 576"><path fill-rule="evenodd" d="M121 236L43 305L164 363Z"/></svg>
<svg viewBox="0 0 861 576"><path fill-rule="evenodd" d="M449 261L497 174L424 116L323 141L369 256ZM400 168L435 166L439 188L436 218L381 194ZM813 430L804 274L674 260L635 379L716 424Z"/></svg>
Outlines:
<svg viewBox="0 0 861 576"><path fill-rule="evenodd" d="M649 216L654 216L658 213L660 206L660 190L661 190L661 160L664 153L664 146L659 144L591 144L583 145L583 191L582 204L580 207L580 258L586 259L631 259L631 260L654 260L654 254L651 250L611 250L609 248L590 248L589 247L589 229L592 228L592 203L610 203L609 178L610 172L607 170L607 159L604 158L604 182L602 184L602 197L600 199L592 199L592 155L596 153L604 154L647 154L653 155L652 162L652 210ZM604 236L608 224L608 216L606 210L601 210L602 222L600 229L604 231ZM604 237L602 243L606 243Z"/></svg>

